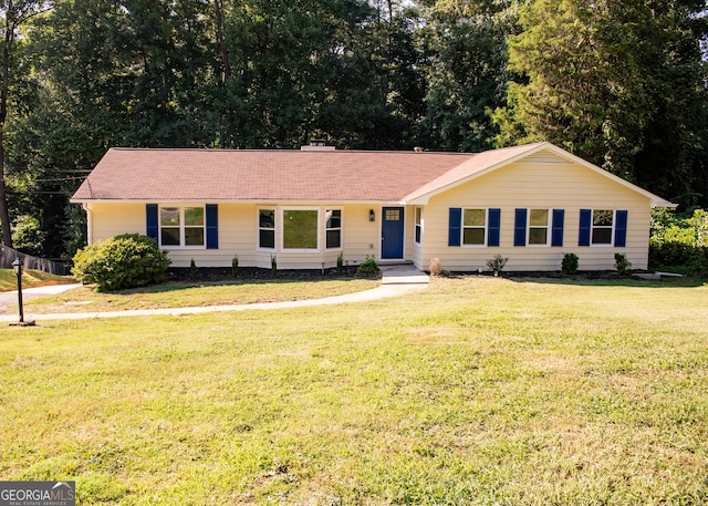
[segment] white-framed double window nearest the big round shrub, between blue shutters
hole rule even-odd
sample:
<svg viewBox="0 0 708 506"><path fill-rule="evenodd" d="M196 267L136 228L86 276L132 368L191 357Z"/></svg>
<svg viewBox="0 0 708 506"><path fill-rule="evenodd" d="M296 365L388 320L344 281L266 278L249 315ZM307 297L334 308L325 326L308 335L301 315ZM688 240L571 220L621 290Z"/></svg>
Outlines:
<svg viewBox="0 0 708 506"><path fill-rule="evenodd" d="M165 248L204 248L205 208L160 207L159 245Z"/></svg>

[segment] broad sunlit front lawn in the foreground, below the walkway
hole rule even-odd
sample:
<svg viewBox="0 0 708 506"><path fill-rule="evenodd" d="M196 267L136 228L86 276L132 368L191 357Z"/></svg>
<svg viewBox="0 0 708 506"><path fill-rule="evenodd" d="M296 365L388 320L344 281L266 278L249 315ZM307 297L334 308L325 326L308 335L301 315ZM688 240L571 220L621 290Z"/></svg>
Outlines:
<svg viewBox="0 0 708 506"><path fill-rule="evenodd" d="M0 474L79 504L708 502L708 288L491 277L0 335Z"/></svg>

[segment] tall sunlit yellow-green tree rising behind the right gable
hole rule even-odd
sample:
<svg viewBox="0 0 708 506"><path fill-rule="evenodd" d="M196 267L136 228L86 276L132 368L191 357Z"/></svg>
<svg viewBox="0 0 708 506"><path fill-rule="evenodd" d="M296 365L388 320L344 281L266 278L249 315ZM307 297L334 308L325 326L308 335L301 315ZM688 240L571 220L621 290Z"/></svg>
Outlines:
<svg viewBox="0 0 708 506"><path fill-rule="evenodd" d="M534 0L510 39L520 78L496 113L498 144L549 140L654 192L685 192L686 172L696 169L681 162L696 158L686 153L695 152L690 135L657 137L699 128L704 8L696 0ZM659 156L667 165L642 163ZM666 186L669 179L680 185Z"/></svg>

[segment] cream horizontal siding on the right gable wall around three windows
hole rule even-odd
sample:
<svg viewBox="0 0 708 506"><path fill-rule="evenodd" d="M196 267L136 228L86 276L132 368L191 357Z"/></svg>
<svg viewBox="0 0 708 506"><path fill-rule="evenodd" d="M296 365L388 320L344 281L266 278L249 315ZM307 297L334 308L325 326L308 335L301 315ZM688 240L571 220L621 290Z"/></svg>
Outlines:
<svg viewBox="0 0 708 506"><path fill-rule="evenodd" d="M438 257L447 270L486 269L486 262L499 254L508 257L507 270L560 270L565 252L580 258L583 270L613 269L614 254L626 254L634 268L645 269L648 258L648 198L581 165L560 157L544 156L531 163L511 164L489 175L430 198L425 207L424 248L420 262L426 268ZM499 247L449 247L449 208L500 208ZM514 210L564 209L563 247L513 246ZM626 247L579 247L580 209L627 210Z"/></svg>

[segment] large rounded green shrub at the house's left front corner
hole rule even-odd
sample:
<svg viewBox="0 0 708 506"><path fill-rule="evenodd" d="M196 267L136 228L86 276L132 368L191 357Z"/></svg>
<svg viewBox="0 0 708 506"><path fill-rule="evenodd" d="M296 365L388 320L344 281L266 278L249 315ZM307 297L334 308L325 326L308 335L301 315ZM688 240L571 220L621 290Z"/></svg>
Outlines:
<svg viewBox="0 0 708 506"><path fill-rule="evenodd" d="M155 240L125 234L76 251L72 272L100 291L113 291L160 282L169 265Z"/></svg>

